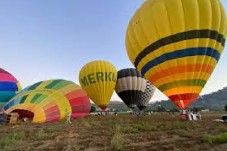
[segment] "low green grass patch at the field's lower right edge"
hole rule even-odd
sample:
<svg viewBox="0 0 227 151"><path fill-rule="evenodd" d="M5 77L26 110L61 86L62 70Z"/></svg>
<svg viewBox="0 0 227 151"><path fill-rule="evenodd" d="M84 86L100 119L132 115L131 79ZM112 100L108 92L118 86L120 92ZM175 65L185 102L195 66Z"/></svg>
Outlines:
<svg viewBox="0 0 227 151"><path fill-rule="evenodd" d="M218 135L205 134L202 136L202 141L209 144L223 144L227 143L227 133L221 133Z"/></svg>

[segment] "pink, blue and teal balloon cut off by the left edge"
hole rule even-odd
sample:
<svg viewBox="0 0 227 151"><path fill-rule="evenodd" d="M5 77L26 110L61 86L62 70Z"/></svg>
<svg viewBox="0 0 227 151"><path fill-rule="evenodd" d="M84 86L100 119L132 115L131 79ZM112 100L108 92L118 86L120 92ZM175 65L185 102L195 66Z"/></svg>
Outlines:
<svg viewBox="0 0 227 151"><path fill-rule="evenodd" d="M0 68L0 106L8 102L20 90L21 86L17 79Z"/></svg>

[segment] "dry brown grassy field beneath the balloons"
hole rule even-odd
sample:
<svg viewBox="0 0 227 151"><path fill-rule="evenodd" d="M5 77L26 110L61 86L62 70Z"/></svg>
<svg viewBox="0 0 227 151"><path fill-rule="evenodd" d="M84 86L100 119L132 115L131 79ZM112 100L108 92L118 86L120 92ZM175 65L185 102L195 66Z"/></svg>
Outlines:
<svg viewBox="0 0 227 151"><path fill-rule="evenodd" d="M227 124L212 121L220 113L206 113L202 121L183 121L179 115L159 113L90 116L65 122L2 125L0 150L14 151L224 151Z"/></svg>

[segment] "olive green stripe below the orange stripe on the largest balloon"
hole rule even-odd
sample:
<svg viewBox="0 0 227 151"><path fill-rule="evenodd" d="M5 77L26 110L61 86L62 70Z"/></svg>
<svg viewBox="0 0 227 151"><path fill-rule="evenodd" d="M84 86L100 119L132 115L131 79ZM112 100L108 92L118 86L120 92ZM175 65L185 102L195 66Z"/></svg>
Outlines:
<svg viewBox="0 0 227 151"><path fill-rule="evenodd" d="M172 88L186 87L186 86L200 86L204 87L207 81L201 79L181 80L163 84L158 87L159 90L165 91Z"/></svg>

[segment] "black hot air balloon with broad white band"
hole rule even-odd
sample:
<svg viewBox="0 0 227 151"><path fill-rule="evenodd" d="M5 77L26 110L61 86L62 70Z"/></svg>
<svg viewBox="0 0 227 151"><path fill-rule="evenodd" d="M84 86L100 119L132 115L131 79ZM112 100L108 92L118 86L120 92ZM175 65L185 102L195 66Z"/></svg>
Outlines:
<svg viewBox="0 0 227 151"><path fill-rule="evenodd" d="M146 79L136 69L122 69L117 72L115 91L122 101L133 109L145 91L146 83Z"/></svg>

